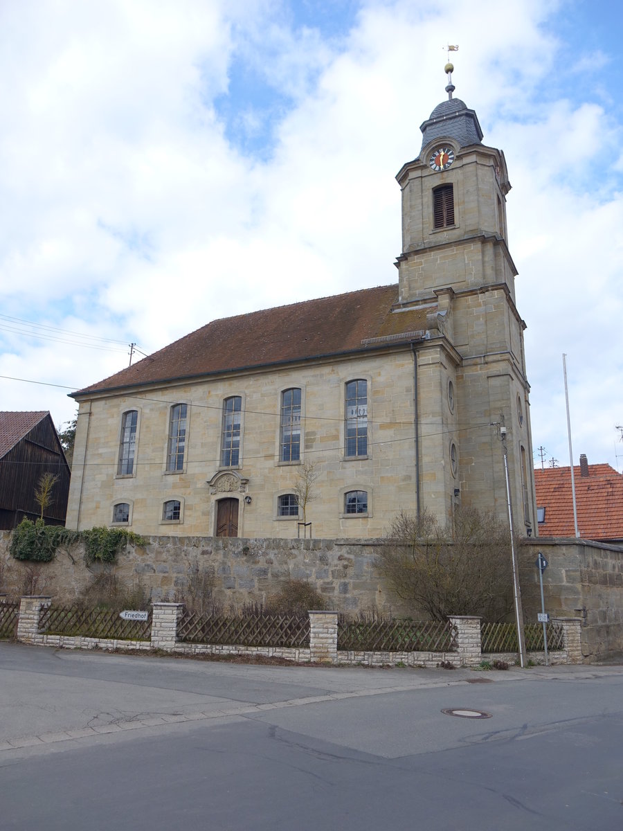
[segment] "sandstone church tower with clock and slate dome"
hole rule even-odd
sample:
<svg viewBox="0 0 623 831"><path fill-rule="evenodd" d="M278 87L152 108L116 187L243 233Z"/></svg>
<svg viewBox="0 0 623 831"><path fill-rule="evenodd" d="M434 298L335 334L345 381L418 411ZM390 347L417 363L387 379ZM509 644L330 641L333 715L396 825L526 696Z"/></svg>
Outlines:
<svg viewBox="0 0 623 831"><path fill-rule="evenodd" d="M426 310L417 347L420 509L440 521L459 505L507 509L536 534L532 437L517 269L508 250L504 154L483 145L478 116L453 98L421 125L419 155L396 176L402 189L398 309Z"/></svg>

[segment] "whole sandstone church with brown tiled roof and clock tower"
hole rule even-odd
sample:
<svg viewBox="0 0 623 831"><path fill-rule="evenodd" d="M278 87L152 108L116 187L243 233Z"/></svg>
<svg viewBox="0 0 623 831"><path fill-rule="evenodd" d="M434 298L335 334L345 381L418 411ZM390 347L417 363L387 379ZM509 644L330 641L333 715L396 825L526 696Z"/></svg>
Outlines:
<svg viewBox="0 0 623 831"><path fill-rule="evenodd" d="M292 538L313 477L314 537L380 536L401 509L506 517L503 420L536 528L506 162L446 91L396 177L398 283L213 321L73 393L68 527Z"/></svg>

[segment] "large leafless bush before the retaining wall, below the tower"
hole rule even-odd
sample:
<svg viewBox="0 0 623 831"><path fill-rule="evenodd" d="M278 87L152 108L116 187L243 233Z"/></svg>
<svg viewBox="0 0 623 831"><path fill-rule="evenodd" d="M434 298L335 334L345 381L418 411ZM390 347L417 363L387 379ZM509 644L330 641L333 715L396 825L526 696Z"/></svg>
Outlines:
<svg viewBox="0 0 623 831"><path fill-rule="evenodd" d="M416 614L497 621L513 609L510 550L508 526L493 514L459 509L442 529L426 511L420 519L402 512L376 547L375 568Z"/></svg>

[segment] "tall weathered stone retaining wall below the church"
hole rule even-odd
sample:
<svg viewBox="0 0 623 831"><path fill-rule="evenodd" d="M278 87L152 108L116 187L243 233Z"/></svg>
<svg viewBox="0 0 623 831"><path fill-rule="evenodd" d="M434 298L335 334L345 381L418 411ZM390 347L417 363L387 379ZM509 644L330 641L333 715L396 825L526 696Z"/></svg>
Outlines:
<svg viewBox="0 0 623 831"><path fill-rule="evenodd" d="M9 553L10 534L0 532L0 591L13 597L49 593L59 602L80 597L101 567L86 568L81 546L60 549L52 563L20 563ZM581 618L581 652L586 661L623 656L623 548L576 539L524 541L522 602L527 622L541 611L539 550L549 561L543 574L546 611ZM120 586L140 584L154 601L182 597L189 569L213 569L214 599L223 606L264 602L287 578L312 583L341 612L378 609L395 617L410 609L375 573L375 548L382 540L242 539L151 537L145 548L129 546L115 564ZM510 556L509 556L510 567ZM36 585L27 585L35 573Z"/></svg>

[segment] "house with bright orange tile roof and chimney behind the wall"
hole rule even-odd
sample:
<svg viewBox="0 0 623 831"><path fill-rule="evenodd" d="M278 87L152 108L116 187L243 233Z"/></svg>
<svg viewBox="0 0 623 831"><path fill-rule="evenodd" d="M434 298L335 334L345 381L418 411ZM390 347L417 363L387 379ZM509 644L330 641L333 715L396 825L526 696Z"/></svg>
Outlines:
<svg viewBox="0 0 623 831"><path fill-rule="evenodd" d="M535 470L538 533L575 537L571 468ZM623 475L610 465L589 465L586 455L573 466L577 527L581 538L623 543Z"/></svg>

